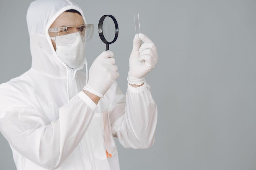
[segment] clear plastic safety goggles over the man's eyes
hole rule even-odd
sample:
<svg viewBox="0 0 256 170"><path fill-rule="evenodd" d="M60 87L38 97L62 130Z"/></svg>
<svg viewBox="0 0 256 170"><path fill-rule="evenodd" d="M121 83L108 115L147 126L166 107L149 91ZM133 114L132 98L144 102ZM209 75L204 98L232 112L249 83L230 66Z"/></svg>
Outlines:
<svg viewBox="0 0 256 170"><path fill-rule="evenodd" d="M48 29L49 36L54 41L58 38L58 36L77 32L81 34L83 41L89 41L93 37L94 24L83 24L81 26L66 26Z"/></svg>

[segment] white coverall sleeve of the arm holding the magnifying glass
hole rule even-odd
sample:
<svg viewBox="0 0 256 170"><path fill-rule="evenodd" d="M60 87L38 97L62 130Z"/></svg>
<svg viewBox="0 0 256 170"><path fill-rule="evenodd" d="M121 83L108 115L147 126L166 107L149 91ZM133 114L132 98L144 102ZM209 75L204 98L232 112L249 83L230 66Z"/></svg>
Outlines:
<svg viewBox="0 0 256 170"><path fill-rule="evenodd" d="M35 164L57 169L82 140L96 104L80 91L59 107L59 119L49 122L11 87L0 85L1 133L17 152Z"/></svg>

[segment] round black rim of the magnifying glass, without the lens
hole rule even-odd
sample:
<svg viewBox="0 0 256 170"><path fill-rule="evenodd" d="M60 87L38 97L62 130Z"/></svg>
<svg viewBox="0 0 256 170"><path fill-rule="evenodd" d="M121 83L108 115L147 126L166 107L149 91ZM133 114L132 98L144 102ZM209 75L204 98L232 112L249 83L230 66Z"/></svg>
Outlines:
<svg viewBox="0 0 256 170"><path fill-rule="evenodd" d="M113 19L114 23L115 23L115 28L116 28L116 34L115 34L115 38L113 39L113 41L109 42L105 39L104 35L103 35L103 29L102 29L102 26L103 26L103 21L106 17L110 17ZM118 37L118 24L117 24L117 21L115 19L115 17L113 15L103 15L100 20L99 20L99 25L98 25L98 32L99 32L99 36L100 36L100 39L103 41L103 43L105 44L112 44L116 41L117 37Z"/></svg>

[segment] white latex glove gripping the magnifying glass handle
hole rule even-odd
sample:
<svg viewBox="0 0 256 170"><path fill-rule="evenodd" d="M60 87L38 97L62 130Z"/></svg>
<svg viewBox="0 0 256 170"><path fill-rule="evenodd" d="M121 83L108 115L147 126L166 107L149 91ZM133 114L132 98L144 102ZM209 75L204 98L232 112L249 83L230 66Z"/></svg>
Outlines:
<svg viewBox="0 0 256 170"><path fill-rule="evenodd" d="M88 84L84 90L102 98L114 81L119 78L115 65L114 53L103 51L93 62L89 69Z"/></svg>

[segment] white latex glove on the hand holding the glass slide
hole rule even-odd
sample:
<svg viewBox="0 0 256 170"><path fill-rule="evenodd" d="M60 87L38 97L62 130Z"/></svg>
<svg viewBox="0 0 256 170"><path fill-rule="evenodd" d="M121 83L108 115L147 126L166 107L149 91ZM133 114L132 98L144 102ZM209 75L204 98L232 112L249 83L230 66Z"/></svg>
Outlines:
<svg viewBox="0 0 256 170"><path fill-rule="evenodd" d="M141 41L144 43L141 44ZM156 66L157 60L157 48L152 40L144 34L136 34L129 58L128 83L138 85L144 83L145 75Z"/></svg>

